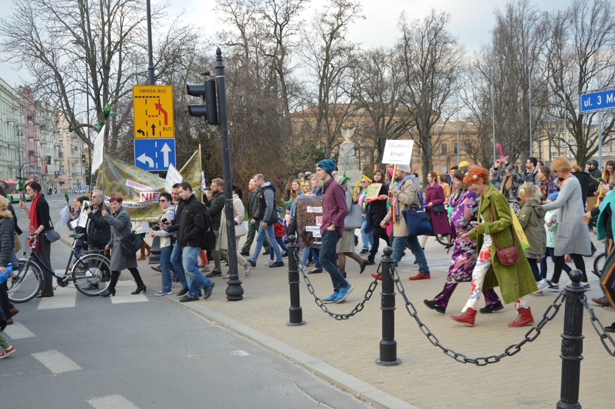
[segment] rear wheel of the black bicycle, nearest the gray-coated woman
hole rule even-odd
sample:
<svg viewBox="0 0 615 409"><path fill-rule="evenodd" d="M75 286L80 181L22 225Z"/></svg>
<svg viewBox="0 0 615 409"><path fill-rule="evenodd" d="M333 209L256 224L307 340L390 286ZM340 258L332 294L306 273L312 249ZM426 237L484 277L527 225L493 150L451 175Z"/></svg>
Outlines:
<svg viewBox="0 0 615 409"><path fill-rule="evenodd" d="M93 297L109 287L111 262L100 254L86 254L79 258L71 270L71 281L80 293Z"/></svg>

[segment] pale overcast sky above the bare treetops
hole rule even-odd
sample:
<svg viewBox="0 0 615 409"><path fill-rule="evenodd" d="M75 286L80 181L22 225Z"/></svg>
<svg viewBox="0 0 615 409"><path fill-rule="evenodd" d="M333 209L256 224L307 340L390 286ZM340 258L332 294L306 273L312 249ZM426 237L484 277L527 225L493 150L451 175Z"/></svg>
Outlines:
<svg viewBox="0 0 615 409"><path fill-rule="evenodd" d="M153 4L164 1L166 0L152 0ZM402 12L406 13L408 19L423 18L433 7L436 10L445 10L451 15L449 30L458 36L459 42L464 44L470 53L489 40L494 24L493 12L498 8L502 9L506 4L506 0L359 1L363 5L365 20L359 20L351 26L349 39L352 41L360 42L365 47L392 44L399 36L397 21ZM173 14L186 10L184 20L201 27L205 36L213 38L213 34L219 29L214 12L215 0L170 0L169 2ZM539 0L532 1L532 4L536 4L542 10L551 11L567 7L570 2ZM316 7L326 3L327 0L312 0L310 9L304 12L305 17L309 17ZM12 14L12 10L12 0L0 0L0 15ZM20 75L23 77L24 74L13 71L7 63L0 63L0 77L10 85L20 84L22 82Z"/></svg>

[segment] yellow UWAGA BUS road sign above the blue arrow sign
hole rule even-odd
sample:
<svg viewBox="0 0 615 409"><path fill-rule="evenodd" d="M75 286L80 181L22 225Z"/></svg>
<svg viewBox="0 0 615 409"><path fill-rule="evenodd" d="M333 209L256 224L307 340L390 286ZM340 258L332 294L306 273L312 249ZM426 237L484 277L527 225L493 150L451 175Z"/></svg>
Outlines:
<svg viewBox="0 0 615 409"><path fill-rule="evenodd" d="M134 85L132 111L135 138L175 138L171 85Z"/></svg>

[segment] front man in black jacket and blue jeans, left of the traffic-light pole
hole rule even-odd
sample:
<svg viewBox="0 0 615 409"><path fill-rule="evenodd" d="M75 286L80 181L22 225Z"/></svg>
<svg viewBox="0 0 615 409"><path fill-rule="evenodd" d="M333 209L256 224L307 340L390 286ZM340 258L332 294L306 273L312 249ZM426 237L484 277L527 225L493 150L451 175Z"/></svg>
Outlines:
<svg viewBox="0 0 615 409"><path fill-rule="evenodd" d="M180 299L180 303L199 300L200 290L203 289L203 299L212 295L213 282L199 270L199 253L201 238L205 232L205 209L203 204L194 197L192 186L188 182L180 183L180 196L184 201L181 213L175 218L180 219L177 231L177 245L183 247L181 260L188 281L188 293Z"/></svg>

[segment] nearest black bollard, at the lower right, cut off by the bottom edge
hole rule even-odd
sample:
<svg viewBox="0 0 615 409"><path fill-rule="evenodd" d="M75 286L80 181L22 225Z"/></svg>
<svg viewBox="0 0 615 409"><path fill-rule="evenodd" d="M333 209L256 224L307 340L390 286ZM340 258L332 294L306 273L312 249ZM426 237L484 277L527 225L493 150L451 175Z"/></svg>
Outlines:
<svg viewBox="0 0 615 409"><path fill-rule="evenodd" d="M581 284L583 273L573 270L568 273L572 282L566 285L564 332L561 334L561 389L558 409L580 409L579 377L583 359L583 304L585 287Z"/></svg>

